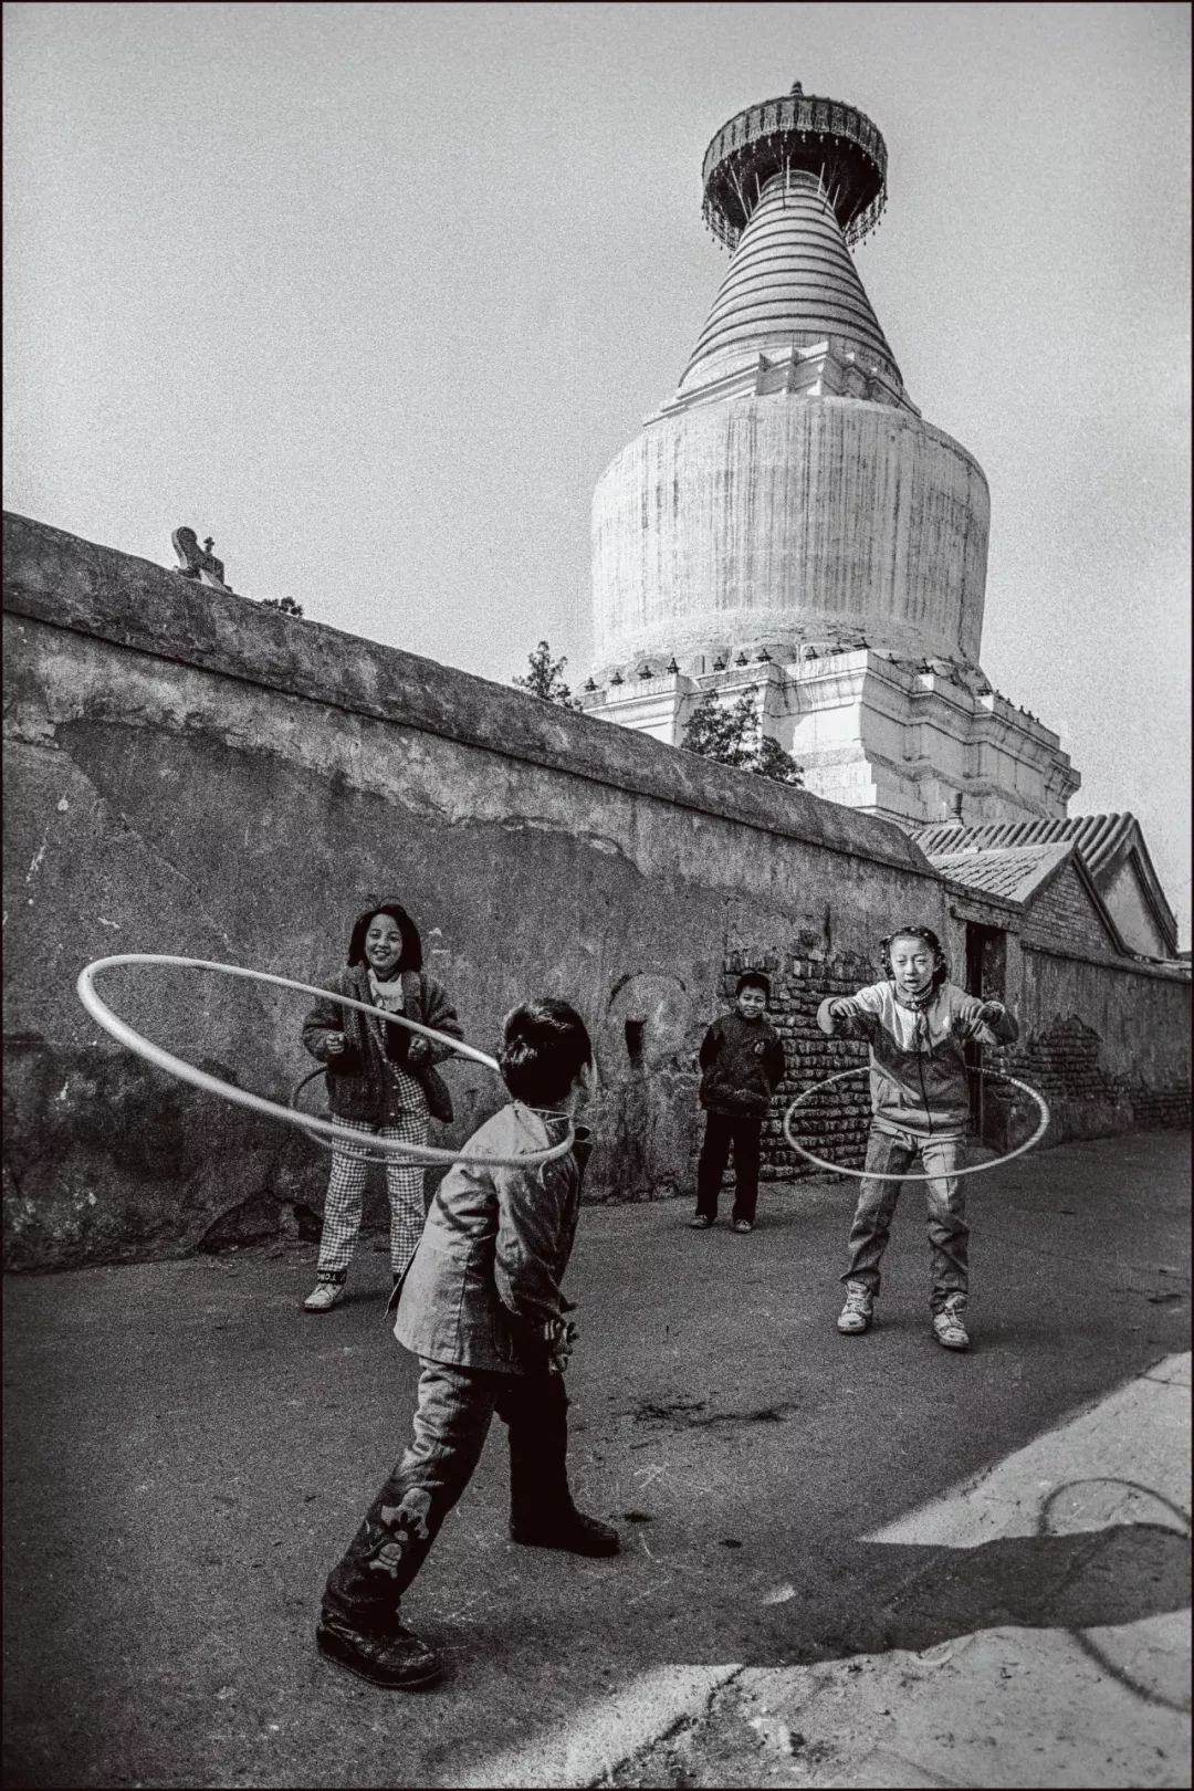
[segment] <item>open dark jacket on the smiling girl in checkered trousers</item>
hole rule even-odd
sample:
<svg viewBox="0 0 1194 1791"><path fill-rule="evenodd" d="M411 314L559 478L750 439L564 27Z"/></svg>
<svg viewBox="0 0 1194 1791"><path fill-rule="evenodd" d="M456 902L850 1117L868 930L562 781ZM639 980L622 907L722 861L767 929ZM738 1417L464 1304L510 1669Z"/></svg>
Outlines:
<svg viewBox="0 0 1194 1791"><path fill-rule="evenodd" d="M422 1026L433 1026L453 1039L464 1039L464 1028L456 1019L456 1010L448 999L448 990L426 971L403 971L403 1012L408 1019ZM342 996L354 996L358 1001L372 1001L369 992L369 971L363 964L351 964L328 980L328 987ZM331 1055L328 1033L344 1033L344 1050ZM387 1051L387 1033L392 1035ZM428 1109L435 1119L451 1119L451 1094L448 1084L435 1071L435 1064L451 1057L451 1046L428 1039L428 1055L419 1064L406 1060L408 1041L415 1035L406 1026L392 1026L372 1014L358 1008L338 1007L333 996L320 998L303 1023L303 1044L311 1057L328 1067L328 1105L337 1119L369 1119L383 1125L392 1112L392 1076L388 1062L412 1075L426 1094Z"/></svg>

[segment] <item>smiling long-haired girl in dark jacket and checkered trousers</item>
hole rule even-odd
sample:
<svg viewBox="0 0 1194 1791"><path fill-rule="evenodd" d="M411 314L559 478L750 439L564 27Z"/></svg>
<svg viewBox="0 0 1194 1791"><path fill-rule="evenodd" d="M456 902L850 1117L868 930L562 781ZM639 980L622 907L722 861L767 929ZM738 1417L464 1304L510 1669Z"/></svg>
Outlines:
<svg viewBox="0 0 1194 1791"><path fill-rule="evenodd" d="M464 1039L448 990L422 969L419 930L397 901L380 901L353 921L347 969L333 980L338 994L417 1021L449 1039ZM383 1141L426 1144L431 1118L451 1119L451 1096L435 1064L451 1046L388 1024L376 1014L338 1007L331 996L315 1003L303 1023L303 1044L328 1071L328 1105L353 1132ZM344 1295L349 1263L360 1234L365 1148L340 1146L331 1157L324 1202L315 1288L303 1302L308 1313L329 1313ZM422 1236L424 1168L387 1157L390 1196L390 1270L403 1277Z"/></svg>

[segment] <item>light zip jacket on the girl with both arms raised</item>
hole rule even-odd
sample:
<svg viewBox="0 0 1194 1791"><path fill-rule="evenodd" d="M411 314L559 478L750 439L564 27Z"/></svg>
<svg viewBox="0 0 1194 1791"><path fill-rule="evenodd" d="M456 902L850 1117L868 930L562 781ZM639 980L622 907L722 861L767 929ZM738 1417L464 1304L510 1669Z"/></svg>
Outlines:
<svg viewBox="0 0 1194 1791"><path fill-rule="evenodd" d="M847 1007L843 1019L831 1001ZM1001 1003L1002 1005L1002 1003ZM942 983L924 1008L906 1007L895 983L868 983L856 996L829 996L816 1010L827 1033L866 1039L870 1044L870 1105L879 1132L917 1137L965 1137L970 1128L970 1087L965 1044L1013 1044L1020 1028L1002 1017L979 1019L983 1001L954 983Z"/></svg>

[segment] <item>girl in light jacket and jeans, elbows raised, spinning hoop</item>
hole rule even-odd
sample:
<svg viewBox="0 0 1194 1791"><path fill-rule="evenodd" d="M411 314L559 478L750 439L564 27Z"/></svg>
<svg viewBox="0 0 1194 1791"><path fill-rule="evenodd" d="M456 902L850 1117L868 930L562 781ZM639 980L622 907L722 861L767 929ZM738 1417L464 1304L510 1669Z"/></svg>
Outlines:
<svg viewBox="0 0 1194 1791"><path fill-rule="evenodd" d="M879 1264L888 1247L900 1184L917 1157L924 1166L933 1254L933 1336L968 1349L963 1313L970 1291L965 1184L970 1098L963 1046L1013 1044L1020 1028L1002 1001L981 1001L949 981L942 942L927 926L900 926L881 942L881 983L822 1001L822 1032L870 1044L872 1121L865 1178L850 1227L841 1281L843 1336L870 1329Z"/></svg>

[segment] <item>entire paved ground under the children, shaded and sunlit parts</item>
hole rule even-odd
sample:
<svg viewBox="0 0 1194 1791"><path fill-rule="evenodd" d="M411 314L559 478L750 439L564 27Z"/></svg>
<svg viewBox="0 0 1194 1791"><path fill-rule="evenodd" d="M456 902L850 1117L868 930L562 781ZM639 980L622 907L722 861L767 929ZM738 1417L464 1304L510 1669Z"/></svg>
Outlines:
<svg viewBox="0 0 1194 1791"><path fill-rule="evenodd" d="M1189 1784L1189 1139L972 1186L976 1349L927 1331L904 1195L838 1338L849 1186L587 1209L582 1503L614 1562L507 1540L503 1445L408 1599L403 1698L320 1662L319 1589L410 1418L383 1254L5 1288L9 1786Z"/></svg>

